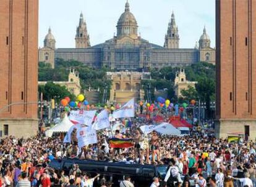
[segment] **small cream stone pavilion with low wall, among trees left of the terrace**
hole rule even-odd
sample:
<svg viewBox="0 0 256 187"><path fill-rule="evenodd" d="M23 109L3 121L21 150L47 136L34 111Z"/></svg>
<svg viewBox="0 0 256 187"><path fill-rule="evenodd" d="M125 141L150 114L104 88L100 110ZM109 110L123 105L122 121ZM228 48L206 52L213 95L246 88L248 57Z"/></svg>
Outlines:
<svg viewBox="0 0 256 187"><path fill-rule="evenodd" d="M46 81L38 81L38 85L45 85ZM75 96L81 94L82 87L80 86L79 72L75 71L74 68L69 69L69 80L68 81L53 81L54 84L65 86L71 94Z"/></svg>

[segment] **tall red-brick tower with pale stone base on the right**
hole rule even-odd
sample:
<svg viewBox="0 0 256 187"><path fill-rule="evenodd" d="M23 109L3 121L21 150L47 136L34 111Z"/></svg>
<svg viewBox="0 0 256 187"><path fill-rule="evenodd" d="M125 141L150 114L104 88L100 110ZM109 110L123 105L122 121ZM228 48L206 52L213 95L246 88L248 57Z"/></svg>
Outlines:
<svg viewBox="0 0 256 187"><path fill-rule="evenodd" d="M216 135L256 137L256 0L216 0Z"/></svg>

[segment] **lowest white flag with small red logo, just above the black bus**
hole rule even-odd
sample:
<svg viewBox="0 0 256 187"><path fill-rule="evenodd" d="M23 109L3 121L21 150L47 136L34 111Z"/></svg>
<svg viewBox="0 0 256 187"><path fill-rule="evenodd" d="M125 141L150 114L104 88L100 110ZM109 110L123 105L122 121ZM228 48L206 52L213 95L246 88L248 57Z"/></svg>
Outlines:
<svg viewBox="0 0 256 187"><path fill-rule="evenodd" d="M91 127L81 127L77 132L77 139L79 148L98 143L96 130Z"/></svg>

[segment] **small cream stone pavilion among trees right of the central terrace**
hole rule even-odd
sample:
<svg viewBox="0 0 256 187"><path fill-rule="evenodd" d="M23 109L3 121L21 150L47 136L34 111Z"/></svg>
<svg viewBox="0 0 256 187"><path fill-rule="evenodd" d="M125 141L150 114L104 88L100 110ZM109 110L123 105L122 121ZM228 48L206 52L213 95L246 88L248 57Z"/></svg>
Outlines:
<svg viewBox="0 0 256 187"><path fill-rule="evenodd" d="M187 90L189 87L194 87L197 84L196 81L187 81L186 73L184 69L176 73L176 77L174 79L174 92L175 95L179 98L182 97L181 91Z"/></svg>

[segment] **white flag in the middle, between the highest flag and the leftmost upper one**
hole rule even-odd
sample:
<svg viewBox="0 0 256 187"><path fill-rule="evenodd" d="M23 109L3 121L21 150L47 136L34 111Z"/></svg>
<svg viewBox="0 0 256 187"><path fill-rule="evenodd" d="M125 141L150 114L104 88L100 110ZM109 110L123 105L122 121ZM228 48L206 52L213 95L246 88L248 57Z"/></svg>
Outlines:
<svg viewBox="0 0 256 187"><path fill-rule="evenodd" d="M92 125L92 129L101 130L108 127L110 127L108 111L106 111L106 109L103 109L103 111L98 114L95 123Z"/></svg>

